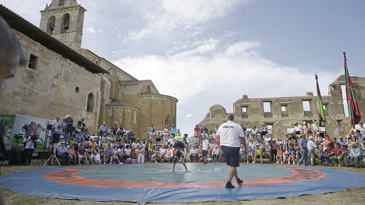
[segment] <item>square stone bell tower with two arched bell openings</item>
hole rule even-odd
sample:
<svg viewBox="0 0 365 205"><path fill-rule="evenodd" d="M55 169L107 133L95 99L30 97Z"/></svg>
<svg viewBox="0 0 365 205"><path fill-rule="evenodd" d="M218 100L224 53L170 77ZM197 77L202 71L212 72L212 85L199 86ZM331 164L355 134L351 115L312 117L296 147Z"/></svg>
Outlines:
<svg viewBox="0 0 365 205"><path fill-rule="evenodd" d="M39 28L70 47L81 47L85 11L76 0L52 0L40 11Z"/></svg>

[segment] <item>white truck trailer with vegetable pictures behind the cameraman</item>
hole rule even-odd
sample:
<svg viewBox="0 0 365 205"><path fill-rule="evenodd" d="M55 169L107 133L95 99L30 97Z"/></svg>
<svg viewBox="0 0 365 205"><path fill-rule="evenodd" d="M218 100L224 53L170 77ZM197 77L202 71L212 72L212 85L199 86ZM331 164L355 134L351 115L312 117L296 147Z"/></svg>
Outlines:
<svg viewBox="0 0 365 205"><path fill-rule="evenodd" d="M22 149L24 138L29 136L30 131L34 131L34 135L39 135L36 151L43 151L47 124L51 124L53 120L16 114L0 114L0 119L4 125L4 143L6 150L11 150L12 148L16 148L16 146ZM17 134L23 134L23 138L19 139L19 144L16 144L16 139L14 138L14 135ZM51 132L48 135L50 136Z"/></svg>

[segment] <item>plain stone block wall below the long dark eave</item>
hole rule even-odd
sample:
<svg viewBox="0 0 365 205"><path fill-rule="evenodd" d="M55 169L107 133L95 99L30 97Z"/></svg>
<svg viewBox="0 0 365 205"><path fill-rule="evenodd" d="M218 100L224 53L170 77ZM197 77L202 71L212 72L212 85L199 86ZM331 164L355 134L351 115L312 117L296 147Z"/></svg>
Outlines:
<svg viewBox="0 0 365 205"><path fill-rule="evenodd" d="M19 67L15 77L5 81L0 113L19 114L53 120L70 114L74 121L85 119L91 133L98 127L101 77L15 31L26 56L38 57L35 70ZM78 93L76 93L78 90ZM94 109L87 112L88 94Z"/></svg>

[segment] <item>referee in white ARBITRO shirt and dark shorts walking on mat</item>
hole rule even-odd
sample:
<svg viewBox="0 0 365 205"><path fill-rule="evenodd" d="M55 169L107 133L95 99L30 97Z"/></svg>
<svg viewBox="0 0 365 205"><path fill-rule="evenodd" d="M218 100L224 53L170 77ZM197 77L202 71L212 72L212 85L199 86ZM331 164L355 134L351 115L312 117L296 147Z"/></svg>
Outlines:
<svg viewBox="0 0 365 205"><path fill-rule="evenodd" d="M245 155L247 155L247 144L245 134L241 128L241 125L235 123L232 114L226 116L227 122L219 126L217 131L217 142L223 152L224 159L228 166L231 166L229 171L228 180L225 188L234 188L231 181L235 177L238 186L241 186L243 180L238 177L237 167L239 167L239 148L243 144L245 147Z"/></svg>

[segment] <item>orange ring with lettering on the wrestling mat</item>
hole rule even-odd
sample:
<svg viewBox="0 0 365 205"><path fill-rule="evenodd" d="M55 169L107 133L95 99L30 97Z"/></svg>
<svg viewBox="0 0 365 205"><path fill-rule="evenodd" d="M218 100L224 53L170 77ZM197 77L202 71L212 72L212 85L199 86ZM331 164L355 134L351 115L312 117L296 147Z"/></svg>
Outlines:
<svg viewBox="0 0 365 205"><path fill-rule="evenodd" d="M128 166L128 165L124 165ZM130 165L129 165L130 166ZM145 164L143 166L153 166ZM260 166L260 165L250 165ZM114 188L220 188L225 185L225 182L199 182L199 183L162 183L162 182L143 182L135 183L132 181L104 181L99 179L86 179L77 175L78 172L90 169L103 169L110 166L92 166L79 167L73 169L64 169L62 172L53 171L43 175L43 178L63 184L79 185L79 186L98 186L98 187L114 187ZM279 167L279 166L276 166ZM283 183L293 183L301 181L317 181L326 177L322 171L316 169L306 169L304 167L285 167L280 168L290 169L293 173L284 177L263 178L250 181L243 181L242 186L257 186L257 185L277 185ZM85 180L91 182L86 183Z"/></svg>

